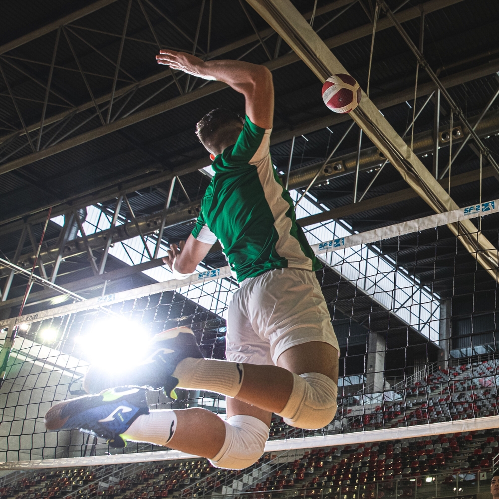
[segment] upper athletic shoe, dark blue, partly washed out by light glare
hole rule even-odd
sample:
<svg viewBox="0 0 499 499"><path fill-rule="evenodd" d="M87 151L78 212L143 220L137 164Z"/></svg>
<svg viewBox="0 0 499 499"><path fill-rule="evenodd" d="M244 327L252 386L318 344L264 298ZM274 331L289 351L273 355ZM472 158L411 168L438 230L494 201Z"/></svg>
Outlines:
<svg viewBox="0 0 499 499"><path fill-rule="evenodd" d="M172 376L177 364L188 357L203 358L194 333L188 327L176 327L157 334L151 340L145 359L121 372L109 372L98 365L90 366L83 380L88 393L98 393L113 386L163 388L167 396L177 399L179 380Z"/></svg>

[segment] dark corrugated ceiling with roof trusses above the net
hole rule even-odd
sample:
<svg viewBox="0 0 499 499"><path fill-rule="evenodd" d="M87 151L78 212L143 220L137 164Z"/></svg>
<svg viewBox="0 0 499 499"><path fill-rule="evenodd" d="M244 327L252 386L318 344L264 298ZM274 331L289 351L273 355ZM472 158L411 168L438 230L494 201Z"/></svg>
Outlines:
<svg viewBox="0 0 499 499"><path fill-rule="evenodd" d="M310 21L314 1L292 3ZM472 124L488 106L477 133L499 161L499 100L495 101L499 3L387 3L413 41L423 43L429 65ZM374 4L374 0L318 0L313 17L313 29L364 90ZM118 220L128 232L121 240L160 235L164 243L177 243L189 235L210 182L201 170L210 160L195 135L196 122L216 107L243 112L244 99L223 83L172 74L155 62L159 48L183 50L204 60L241 59L265 64L272 71L271 156L283 177L290 165L290 188L308 186L351 124L348 116L334 114L324 105L321 82L246 1L8 2L2 5L0 17L2 258L30 269L51 207L52 217L72 216L76 229L70 238L69 231L64 234L59 225L48 224L42 245L46 274L67 289L94 296L103 292L103 282L108 292L152 282L140 270L159 263L141 264L133 273L109 256L104 274L93 271L83 247L86 243L72 242L78 232L75 217L83 221L86 207L97 207L112 218L117 203L124 199ZM407 141L414 133L414 152L434 175L438 167L441 185L450 189L460 207L498 198L499 176L485 159L480 185L479 151L473 140L446 171L450 149L445 132L449 133L451 108L443 97L439 129L444 133L438 139L441 147L435 165L436 87L420 68L415 89L416 67L414 54L381 12L370 98L401 136L409 129ZM414 110L419 115L412 130ZM453 127L461 134L455 137L455 152L466 134L456 119ZM432 215L433 210L390 163L380 171L383 159L366 135L359 159L356 201L360 201L354 203L358 138L359 128L354 126L332 159L343 167L321 174L308 191L307 197L324 212L322 221L341 219L353 231L364 232ZM165 207L164 230L158 233ZM306 228L316 221L312 219L303 219L301 225ZM138 223L141 231L136 229ZM497 215L484 218L482 224L483 233L497 247ZM444 298L497 287L450 230L441 227L438 233L430 232L387 241L381 251ZM118 241L116 234L113 237L113 243ZM99 266L106 241L102 237L93 241ZM220 248L215 248L204 265L220 267L224 261ZM59 267L53 272L56 264ZM0 317L6 318L16 315L26 279L6 267L0 271ZM106 274L109 278L104 280ZM53 299L57 293L38 284L32 292L32 302L37 303L31 304L32 310L60 303ZM337 309L344 320L345 310L340 305ZM380 323L385 319L383 315Z"/></svg>

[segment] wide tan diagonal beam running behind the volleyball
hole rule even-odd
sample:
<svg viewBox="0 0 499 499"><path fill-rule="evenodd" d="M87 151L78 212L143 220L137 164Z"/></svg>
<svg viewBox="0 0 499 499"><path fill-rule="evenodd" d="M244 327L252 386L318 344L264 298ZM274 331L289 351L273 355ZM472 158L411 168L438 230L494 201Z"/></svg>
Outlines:
<svg viewBox="0 0 499 499"><path fill-rule="evenodd" d="M282 36L321 82L331 74L348 72L289 0L247 1ZM423 10L426 11L424 8ZM360 104L350 115L402 178L435 212L443 213L459 208L364 92ZM498 281L499 258L494 245L482 233L475 236L477 230L470 220L449 224L449 228L491 277Z"/></svg>

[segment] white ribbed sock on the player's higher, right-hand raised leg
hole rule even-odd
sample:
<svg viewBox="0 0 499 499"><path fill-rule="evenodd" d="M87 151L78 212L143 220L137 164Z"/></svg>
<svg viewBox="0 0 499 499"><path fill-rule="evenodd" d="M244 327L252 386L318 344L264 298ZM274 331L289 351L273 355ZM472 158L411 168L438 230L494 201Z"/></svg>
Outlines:
<svg viewBox="0 0 499 499"><path fill-rule="evenodd" d="M235 397L243 384L244 368L239 362L188 357L178 363L172 376L179 380L180 388Z"/></svg>

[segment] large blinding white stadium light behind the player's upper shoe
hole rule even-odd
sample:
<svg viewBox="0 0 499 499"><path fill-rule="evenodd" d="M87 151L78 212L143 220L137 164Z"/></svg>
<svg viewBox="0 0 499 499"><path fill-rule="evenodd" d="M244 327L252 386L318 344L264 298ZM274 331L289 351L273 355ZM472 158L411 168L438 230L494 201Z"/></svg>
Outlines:
<svg viewBox="0 0 499 499"><path fill-rule="evenodd" d="M78 336L80 345L91 364L116 371L139 363L146 353L149 335L136 322L120 317L96 321L90 332Z"/></svg>

